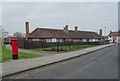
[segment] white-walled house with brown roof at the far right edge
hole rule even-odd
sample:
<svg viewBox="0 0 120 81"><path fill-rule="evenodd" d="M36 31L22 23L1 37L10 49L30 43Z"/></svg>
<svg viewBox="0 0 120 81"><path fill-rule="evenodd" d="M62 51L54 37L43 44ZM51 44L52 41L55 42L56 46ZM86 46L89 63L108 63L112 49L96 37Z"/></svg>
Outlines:
<svg viewBox="0 0 120 81"><path fill-rule="evenodd" d="M120 30L117 32L110 31L108 35L108 40L110 43L120 43Z"/></svg>

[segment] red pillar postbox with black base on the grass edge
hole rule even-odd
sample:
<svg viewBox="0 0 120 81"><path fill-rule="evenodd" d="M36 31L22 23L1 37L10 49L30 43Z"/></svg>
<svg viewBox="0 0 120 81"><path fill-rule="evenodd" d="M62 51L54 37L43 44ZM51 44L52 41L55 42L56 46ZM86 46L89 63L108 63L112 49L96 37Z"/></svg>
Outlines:
<svg viewBox="0 0 120 81"><path fill-rule="evenodd" d="M12 41L12 58L18 59L18 39L11 39Z"/></svg>

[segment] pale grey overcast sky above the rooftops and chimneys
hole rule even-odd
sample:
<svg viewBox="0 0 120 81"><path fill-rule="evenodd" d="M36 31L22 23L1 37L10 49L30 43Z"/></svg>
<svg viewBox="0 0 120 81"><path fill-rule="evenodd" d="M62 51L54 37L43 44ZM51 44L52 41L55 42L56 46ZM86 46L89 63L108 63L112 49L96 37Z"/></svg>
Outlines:
<svg viewBox="0 0 120 81"><path fill-rule="evenodd" d="M70 30L78 25L81 31L98 32L106 26L106 34L118 29L117 2L5 2L2 4L2 25L11 34L25 32L26 21L30 32L35 28Z"/></svg>

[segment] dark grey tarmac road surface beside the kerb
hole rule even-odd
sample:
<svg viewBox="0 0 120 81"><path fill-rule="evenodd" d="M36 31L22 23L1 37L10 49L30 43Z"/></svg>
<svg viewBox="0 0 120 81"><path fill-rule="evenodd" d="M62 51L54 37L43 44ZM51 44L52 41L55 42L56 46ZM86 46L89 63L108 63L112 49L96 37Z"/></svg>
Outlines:
<svg viewBox="0 0 120 81"><path fill-rule="evenodd" d="M118 79L118 45L29 71L17 79Z"/></svg>

